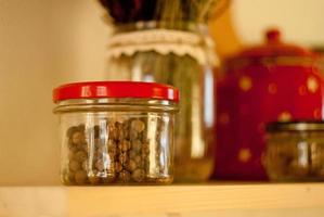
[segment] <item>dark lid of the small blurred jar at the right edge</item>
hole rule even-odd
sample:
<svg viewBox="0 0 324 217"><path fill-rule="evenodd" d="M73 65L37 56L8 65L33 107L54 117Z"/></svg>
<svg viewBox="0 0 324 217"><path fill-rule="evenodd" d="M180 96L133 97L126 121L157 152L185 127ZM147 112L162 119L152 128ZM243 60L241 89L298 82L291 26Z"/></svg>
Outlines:
<svg viewBox="0 0 324 217"><path fill-rule="evenodd" d="M273 122L267 125L268 132L321 130L324 130L323 120Z"/></svg>

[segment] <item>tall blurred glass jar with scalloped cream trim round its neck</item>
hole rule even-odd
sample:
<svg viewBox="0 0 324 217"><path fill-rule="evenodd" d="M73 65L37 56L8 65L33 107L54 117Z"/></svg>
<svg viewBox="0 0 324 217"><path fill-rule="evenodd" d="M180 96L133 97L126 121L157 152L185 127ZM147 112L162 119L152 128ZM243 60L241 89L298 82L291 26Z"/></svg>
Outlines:
<svg viewBox="0 0 324 217"><path fill-rule="evenodd" d="M180 90L176 181L204 181L212 171L213 67L205 25L140 22L116 27L108 44L107 79L169 84Z"/></svg>

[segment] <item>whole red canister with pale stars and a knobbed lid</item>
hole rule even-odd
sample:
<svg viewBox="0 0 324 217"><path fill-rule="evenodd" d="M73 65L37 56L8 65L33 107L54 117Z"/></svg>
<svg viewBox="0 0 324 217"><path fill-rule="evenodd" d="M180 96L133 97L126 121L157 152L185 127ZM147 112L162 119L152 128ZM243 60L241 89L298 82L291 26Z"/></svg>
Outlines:
<svg viewBox="0 0 324 217"><path fill-rule="evenodd" d="M265 124L322 119L324 86L316 56L283 42L276 29L267 33L265 41L223 65L217 84L217 178L267 179Z"/></svg>

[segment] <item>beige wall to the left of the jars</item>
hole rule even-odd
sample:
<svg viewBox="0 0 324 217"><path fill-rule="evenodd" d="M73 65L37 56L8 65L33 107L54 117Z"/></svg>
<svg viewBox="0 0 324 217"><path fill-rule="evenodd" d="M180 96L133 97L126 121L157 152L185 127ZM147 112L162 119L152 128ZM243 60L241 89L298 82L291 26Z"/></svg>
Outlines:
<svg viewBox="0 0 324 217"><path fill-rule="evenodd" d="M0 0L0 184L60 182L51 91L103 77L101 15L94 0Z"/></svg>

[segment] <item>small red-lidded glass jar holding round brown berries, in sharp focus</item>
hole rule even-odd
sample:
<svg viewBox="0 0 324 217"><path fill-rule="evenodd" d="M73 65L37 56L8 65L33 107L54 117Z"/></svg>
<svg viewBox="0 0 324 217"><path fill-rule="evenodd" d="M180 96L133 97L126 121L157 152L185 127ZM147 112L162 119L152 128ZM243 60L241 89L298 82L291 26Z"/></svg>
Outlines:
<svg viewBox="0 0 324 217"><path fill-rule="evenodd" d="M177 89L98 81L53 91L64 184L170 183Z"/></svg>

